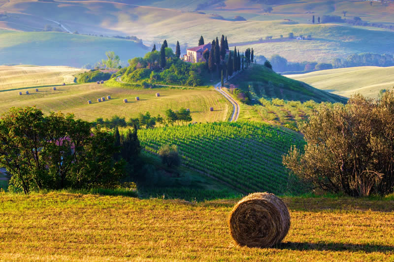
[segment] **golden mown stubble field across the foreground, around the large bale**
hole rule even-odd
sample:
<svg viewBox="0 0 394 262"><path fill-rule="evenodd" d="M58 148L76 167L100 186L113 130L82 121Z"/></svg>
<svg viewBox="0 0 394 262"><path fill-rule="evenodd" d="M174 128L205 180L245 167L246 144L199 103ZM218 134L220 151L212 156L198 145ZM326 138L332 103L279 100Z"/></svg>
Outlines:
<svg viewBox="0 0 394 262"><path fill-rule="evenodd" d="M238 247L237 200L185 202L70 193L0 198L5 261L392 261L394 202L284 197L291 229L273 248Z"/></svg>

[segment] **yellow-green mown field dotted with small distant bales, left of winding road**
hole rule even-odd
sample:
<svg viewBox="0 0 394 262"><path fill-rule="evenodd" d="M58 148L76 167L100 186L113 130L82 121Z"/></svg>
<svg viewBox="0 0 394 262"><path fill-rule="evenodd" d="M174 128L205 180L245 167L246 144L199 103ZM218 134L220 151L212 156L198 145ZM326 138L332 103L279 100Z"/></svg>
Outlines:
<svg viewBox="0 0 394 262"><path fill-rule="evenodd" d="M114 115L124 116L127 119L137 117L139 113L149 112L151 116L161 114L167 109L178 110L182 107L189 108L193 121L226 121L230 117L231 104L213 88L197 89L131 89L126 87L110 87L104 85L83 84L66 85L57 87L23 87L15 90L1 91L0 113L8 111L10 107L36 106L44 112L62 111L74 113L76 117L93 121L97 117L110 118ZM21 91L23 95L18 95ZM29 94L25 94L29 91ZM159 92L160 97L155 93ZM97 98L111 96L111 100L97 102ZM135 101L135 97L140 98ZM128 99L128 103L123 103ZM88 104L88 100L92 104ZM214 111L210 112L209 108Z"/></svg>

